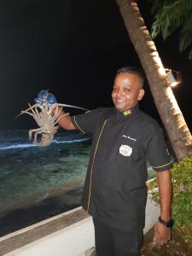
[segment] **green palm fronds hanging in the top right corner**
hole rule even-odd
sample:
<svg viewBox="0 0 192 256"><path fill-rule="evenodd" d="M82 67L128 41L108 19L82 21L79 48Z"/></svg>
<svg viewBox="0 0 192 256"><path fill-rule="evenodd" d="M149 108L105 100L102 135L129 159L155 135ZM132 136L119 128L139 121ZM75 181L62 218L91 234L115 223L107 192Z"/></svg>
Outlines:
<svg viewBox="0 0 192 256"><path fill-rule="evenodd" d="M172 32L180 29L179 50L183 51L192 44L192 0L148 0L154 14L152 38L158 34L166 40ZM192 60L192 49L189 52Z"/></svg>

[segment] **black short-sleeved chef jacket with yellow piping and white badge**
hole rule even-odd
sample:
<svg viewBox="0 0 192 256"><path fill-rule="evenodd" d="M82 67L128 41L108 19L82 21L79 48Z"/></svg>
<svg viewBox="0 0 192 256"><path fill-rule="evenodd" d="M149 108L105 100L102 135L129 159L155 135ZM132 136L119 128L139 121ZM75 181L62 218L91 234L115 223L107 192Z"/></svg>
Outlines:
<svg viewBox="0 0 192 256"><path fill-rule="evenodd" d="M138 105L127 112L98 108L72 120L93 134L82 206L114 228L143 229L147 160L157 172L171 167L160 125Z"/></svg>

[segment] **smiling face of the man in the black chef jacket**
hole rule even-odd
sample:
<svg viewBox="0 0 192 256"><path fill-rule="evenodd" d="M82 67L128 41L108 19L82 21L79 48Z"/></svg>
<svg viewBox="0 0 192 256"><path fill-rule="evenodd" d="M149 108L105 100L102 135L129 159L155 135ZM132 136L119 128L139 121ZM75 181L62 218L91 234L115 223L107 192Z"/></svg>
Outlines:
<svg viewBox="0 0 192 256"><path fill-rule="evenodd" d="M136 74L119 73L114 79L112 99L120 112L133 108L143 95L142 81Z"/></svg>

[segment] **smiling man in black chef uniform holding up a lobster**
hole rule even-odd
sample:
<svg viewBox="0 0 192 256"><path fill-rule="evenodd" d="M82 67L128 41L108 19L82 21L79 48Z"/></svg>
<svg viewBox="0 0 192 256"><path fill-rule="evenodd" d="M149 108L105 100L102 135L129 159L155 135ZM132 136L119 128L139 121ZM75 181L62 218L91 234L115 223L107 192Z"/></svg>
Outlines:
<svg viewBox="0 0 192 256"><path fill-rule="evenodd" d="M64 129L93 134L82 206L93 216L97 256L140 255L147 160L157 172L160 189L154 244L164 245L171 238L171 160L160 126L138 107L143 96L143 73L123 67L113 84L115 108L65 116L59 122Z"/></svg>

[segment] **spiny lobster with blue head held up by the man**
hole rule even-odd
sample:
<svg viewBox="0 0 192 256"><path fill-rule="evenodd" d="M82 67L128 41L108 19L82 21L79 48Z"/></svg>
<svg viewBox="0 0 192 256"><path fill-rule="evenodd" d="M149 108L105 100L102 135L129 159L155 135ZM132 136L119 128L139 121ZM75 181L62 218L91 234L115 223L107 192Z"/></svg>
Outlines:
<svg viewBox="0 0 192 256"><path fill-rule="evenodd" d="M55 132L59 129L59 125L57 125L58 121L69 114L65 113L60 116L63 107L87 110L73 105L57 103L55 96L50 94L48 90L40 91L35 102L34 105L28 103L30 108L22 110L20 114L27 113L36 120L39 128L29 130L29 139L33 139L33 143L36 146L42 147L49 146L52 143ZM38 140L38 136L41 136L40 141Z"/></svg>

